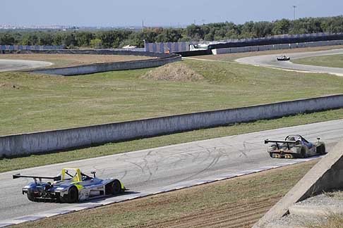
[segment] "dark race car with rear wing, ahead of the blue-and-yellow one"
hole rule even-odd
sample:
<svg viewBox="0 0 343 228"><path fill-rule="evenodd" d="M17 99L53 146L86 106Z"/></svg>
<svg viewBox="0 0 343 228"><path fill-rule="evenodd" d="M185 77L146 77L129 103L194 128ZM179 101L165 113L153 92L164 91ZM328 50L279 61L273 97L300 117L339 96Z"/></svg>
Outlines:
<svg viewBox="0 0 343 228"><path fill-rule="evenodd" d="M265 140L265 144L272 143L267 152L272 158L306 158L309 156L325 154L323 141L311 143L301 135L289 135L284 140Z"/></svg>

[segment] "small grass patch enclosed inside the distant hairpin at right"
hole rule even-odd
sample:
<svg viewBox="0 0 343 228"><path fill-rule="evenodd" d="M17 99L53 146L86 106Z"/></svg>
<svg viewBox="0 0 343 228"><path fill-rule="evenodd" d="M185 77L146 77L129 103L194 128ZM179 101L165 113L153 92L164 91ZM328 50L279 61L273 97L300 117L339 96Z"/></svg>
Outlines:
<svg viewBox="0 0 343 228"><path fill-rule="evenodd" d="M292 61L293 63L305 65L320 65L330 68L343 68L343 55L333 56L316 56L311 58L299 58Z"/></svg>

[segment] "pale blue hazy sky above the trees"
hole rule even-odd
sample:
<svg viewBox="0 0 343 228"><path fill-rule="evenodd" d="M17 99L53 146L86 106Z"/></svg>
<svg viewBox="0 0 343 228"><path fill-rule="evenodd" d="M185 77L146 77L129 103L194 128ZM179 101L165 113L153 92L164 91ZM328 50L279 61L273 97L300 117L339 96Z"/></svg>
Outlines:
<svg viewBox="0 0 343 228"><path fill-rule="evenodd" d="M189 25L343 15L342 0L1 0L0 25Z"/></svg>

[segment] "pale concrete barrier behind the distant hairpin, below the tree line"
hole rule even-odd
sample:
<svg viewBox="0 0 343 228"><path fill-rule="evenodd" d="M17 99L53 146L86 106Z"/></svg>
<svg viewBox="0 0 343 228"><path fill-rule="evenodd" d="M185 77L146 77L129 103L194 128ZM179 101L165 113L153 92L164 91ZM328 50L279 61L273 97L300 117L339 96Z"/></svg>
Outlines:
<svg viewBox="0 0 343 228"><path fill-rule="evenodd" d="M342 45L342 44L343 44L343 40L330 40L330 41L296 43L296 44L274 44L274 45L263 45L263 46L247 46L247 47L241 47L241 48L212 49L212 53L214 55L219 55L219 54L224 54L224 53L299 49L299 48L306 48L306 47L313 47L313 46L334 46L334 45Z"/></svg>

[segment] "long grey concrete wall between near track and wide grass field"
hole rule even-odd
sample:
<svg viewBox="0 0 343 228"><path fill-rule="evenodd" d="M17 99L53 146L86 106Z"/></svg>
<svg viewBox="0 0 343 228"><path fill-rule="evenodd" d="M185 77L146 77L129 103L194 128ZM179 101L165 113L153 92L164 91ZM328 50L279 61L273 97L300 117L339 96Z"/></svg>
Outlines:
<svg viewBox="0 0 343 228"><path fill-rule="evenodd" d="M339 94L245 108L9 135L0 137L0 156L21 156L30 153L66 150L342 107L343 94Z"/></svg>

